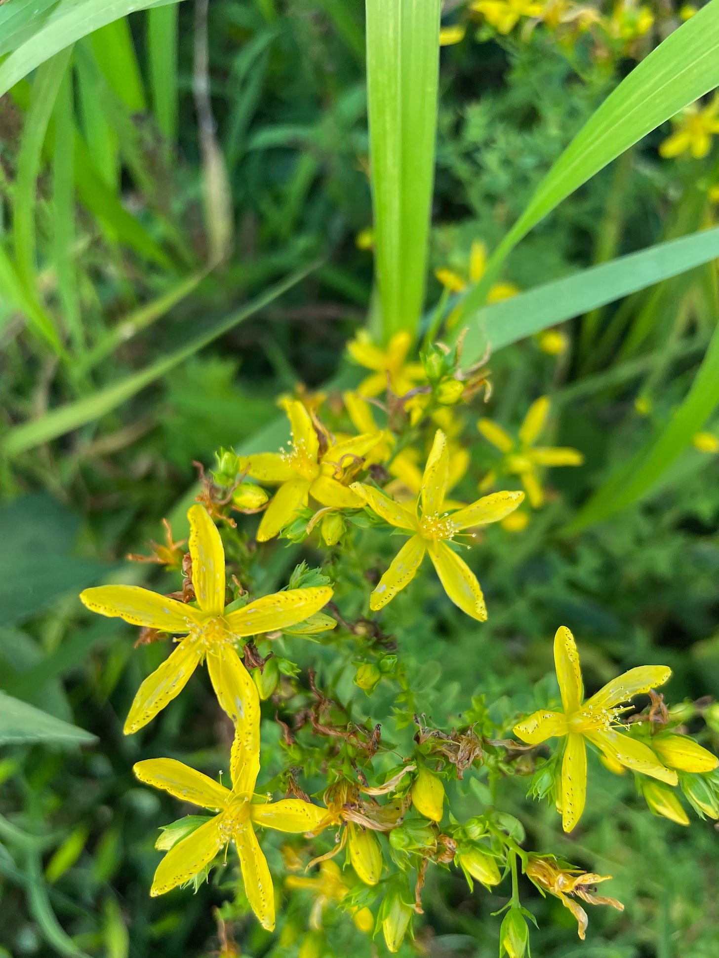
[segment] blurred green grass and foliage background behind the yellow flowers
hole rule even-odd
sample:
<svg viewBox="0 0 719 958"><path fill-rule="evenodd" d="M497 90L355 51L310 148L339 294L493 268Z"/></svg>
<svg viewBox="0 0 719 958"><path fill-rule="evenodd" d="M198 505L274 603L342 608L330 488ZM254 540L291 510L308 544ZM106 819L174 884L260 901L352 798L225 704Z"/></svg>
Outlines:
<svg viewBox="0 0 719 958"><path fill-rule="evenodd" d="M568 55L541 30L485 42L470 32L443 52L431 269L466 271L473 240L497 245L644 52L606 60L578 43ZM574 194L522 241L503 278L531 288L713 222L719 154L662 160L668 131ZM164 650L133 651L131 628L90 621L75 596L105 577L147 578L151 567L124 557L160 538L159 518L195 481L193 460L211 465L215 448L275 418L278 393L335 374L370 307L372 255L356 242L371 225L367 153L359 0L133 13L0 100L0 689L98 740L3 747L0 947L13 958L220 947L210 906L227 888L149 899L152 843L175 810L137 787L130 768L160 754L190 764L217 754L220 767L220 746L208 742L225 741L226 729L202 678L125 739L133 690ZM429 302L439 293L431 279ZM675 671L673 700L719 695L717 457L692 448L638 507L581 536L562 531L669 420L716 321L709 264L568 327L559 359L534 339L492 358L490 414L516 426L550 393L558 442L582 449L587 464L552 476L557 494L524 533L488 535L486 626L457 622L441 604L432 621L405 594L387 609L424 709L453 715L477 694L531 708L559 621L575 630L597 686L661 660ZM484 465L474 427L467 438ZM263 587L284 582L292 564L278 546ZM264 729L268 765L273 729ZM532 899L535 955L715 958L712 824L683 831L649 819L630 783L591 771L600 783L591 810L559 850L613 874L610 893L627 911L591 914L580 947L559 902ZM468 789L467 810L477 797ZM507 801L535 847L555 850L553 813L527 806L516 785ZM421 946L494 955L490 913L503 900L471 896L456 875L432 880ZM349 934L339 927L338 941ZM251 922L236 934L243 953L297 950L270 944ZM371 953L359 939L343 947Z"/></svg>

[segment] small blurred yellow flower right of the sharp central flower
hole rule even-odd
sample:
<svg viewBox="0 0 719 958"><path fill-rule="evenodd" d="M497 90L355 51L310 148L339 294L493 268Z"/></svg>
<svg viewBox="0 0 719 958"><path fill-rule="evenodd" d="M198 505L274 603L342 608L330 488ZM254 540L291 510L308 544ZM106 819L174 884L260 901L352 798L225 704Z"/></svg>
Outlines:
<svg viewBox="0 0 719 958"><path fill-rule="evenodd" d="M518 442L502 427L490 419L476 423L479 432L502 453L497 469L492 469L479 484L481 491L490 489L497 482L498 472L520 477L529 502L539 509L545 501L545 491L539 481L538 468L543 466L581 466L584 456L577 449L565 446L534 445L542 432L549 414L549 399L540 397L531 404L520 426Z"/></svg>

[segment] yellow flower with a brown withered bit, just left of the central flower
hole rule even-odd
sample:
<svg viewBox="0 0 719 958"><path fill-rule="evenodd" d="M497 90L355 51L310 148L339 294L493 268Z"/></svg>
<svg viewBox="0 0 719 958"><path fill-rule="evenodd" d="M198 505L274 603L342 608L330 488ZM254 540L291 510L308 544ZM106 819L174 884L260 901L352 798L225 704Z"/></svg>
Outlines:
<svg viewBox="0 0 719 958"><path fill-rule="evenodd" d="M320 505L332 509L359 509L361 499L341 480L357 473L362 458L381 439L378 433L355 436L330 445L320 453L312 417L305 406L290 399L285 403L285 410L292 431L290 450L258 452L238 459L240 472L280 487L262 517L257 530L258 542L267 542L276 536L296 510L307 504L310 495Z"/></svg>

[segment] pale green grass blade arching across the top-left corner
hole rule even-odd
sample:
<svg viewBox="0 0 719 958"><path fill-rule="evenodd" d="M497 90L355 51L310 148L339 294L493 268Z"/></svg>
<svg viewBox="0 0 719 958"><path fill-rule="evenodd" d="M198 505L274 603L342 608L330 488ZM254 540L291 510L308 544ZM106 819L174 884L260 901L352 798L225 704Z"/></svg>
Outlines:
<svg viewBox="0 0 719 958"><path fill-rule="evenodd" d="M136 10L164 6L166 0L59 0L50 13L42 9L41 16L33 21L38 29L13 50L10 57L0 63L0 97L8 92L18 80L35 70L40 63L54 57L60 50L69 47L82 36L100 30L108 23L127 16ZM180 0L177 0L180 2ZM38 5L43 8L44 5Z"/></svg>

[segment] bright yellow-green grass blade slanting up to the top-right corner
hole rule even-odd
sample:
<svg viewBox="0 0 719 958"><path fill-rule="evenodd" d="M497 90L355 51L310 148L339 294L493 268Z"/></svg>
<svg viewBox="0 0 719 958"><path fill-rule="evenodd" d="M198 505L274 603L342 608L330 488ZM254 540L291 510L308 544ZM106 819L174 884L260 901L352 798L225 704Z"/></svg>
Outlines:
<svg viewBox="0 0 719 958"><path fill-rule="evenodd" d="M719 0L710 0L619 83L574 137L467 294L465 314L483 305L501 263L532 227L625 149L717 85Z"/></svg>

